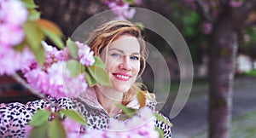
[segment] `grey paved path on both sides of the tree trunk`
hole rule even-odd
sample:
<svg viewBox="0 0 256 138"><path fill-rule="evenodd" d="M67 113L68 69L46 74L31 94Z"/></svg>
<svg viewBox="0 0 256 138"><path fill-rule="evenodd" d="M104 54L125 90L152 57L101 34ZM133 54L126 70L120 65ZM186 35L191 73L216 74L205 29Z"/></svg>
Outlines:
<svg viewBox="0 0 256 138"><path fill-rule="evenodd" d="M233 119L256 111L256 78L236 78L233 97ZM189 97L182 112L172 118L173 138L190 138L207 129L207 101L207 94Z"/></svg>

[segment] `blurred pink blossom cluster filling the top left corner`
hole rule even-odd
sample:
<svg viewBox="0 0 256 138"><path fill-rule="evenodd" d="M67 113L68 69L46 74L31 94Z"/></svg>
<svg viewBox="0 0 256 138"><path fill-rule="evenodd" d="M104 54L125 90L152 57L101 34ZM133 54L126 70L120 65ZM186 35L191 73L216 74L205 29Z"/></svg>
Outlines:
<svg viewBox="0 0 256 138"><path fill-rule="evenodd" d="M0 0L0 75L11 75L26 68L33 59L30 49L16 51L15 46L25 37L22 25L27 10L19 0Z"/></svg>

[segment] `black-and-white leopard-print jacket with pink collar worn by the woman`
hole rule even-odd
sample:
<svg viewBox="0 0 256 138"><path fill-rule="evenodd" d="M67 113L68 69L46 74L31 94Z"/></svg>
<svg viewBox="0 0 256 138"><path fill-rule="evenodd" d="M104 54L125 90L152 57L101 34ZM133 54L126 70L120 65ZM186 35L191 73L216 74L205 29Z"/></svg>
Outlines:
<svg viewBox="0 0 256 138"><path fill-rule="evenodd" d="M60 98L55 100L49 98L50 101L57 103L61 108L74 109L84 115L87 119L87 125L94 129L107 129L108 120L110 117L104 111L102 106L96 99L95 92L92 90L86 91L79 98L69 99ZM26 125L32 118L32 114L38 109L49 107L49 101L38 100L27 102L26 105L15 102L9 104L0 104L0 138L20 138L26 136ZM127 106L139 108L137 99L131 101ZM147 101L146 106L154 110L155 101ZM120 114L116 114L112 118L118 119ZM166 118L166 117L165 117ZM155 126L162 129L165 138L171 138L171 127L159 120L155 121Z"/></svg>

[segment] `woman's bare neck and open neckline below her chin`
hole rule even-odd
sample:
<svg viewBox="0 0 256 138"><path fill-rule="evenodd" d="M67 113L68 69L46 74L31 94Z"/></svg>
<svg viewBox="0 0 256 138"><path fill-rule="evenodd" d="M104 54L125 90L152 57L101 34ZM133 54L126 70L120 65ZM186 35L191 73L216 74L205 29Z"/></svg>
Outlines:
<svg viewBox="0 0 256 138"><path fill-rule="evenodd" d="M104 90L103 90L104 89ZM109 117L113 117L120 109L116 104L121 104L123 100L123 93L115 92L113 90L95 87L96 96L103 109L108 113Z"/></svg>

